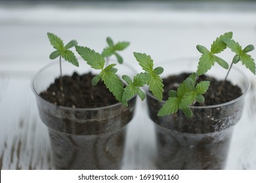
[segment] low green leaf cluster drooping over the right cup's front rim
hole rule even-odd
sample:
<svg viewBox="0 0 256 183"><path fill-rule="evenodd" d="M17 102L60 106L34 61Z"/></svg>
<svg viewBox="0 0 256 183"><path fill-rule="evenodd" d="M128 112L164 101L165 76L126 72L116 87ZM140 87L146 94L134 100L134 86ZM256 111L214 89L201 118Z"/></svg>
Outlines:
<svg viewBox="0 0 256 183"><path fill-rule="evenodd" d="M196 73L192 73L179 85L177 92L175 90L169 91L169 98L158 112L158 116L173 114L181 109L188 118L191 118L193 113L189 106L195 101L204 102L203 94L208 90L209 84L209 81L196 84Z"/></svg>

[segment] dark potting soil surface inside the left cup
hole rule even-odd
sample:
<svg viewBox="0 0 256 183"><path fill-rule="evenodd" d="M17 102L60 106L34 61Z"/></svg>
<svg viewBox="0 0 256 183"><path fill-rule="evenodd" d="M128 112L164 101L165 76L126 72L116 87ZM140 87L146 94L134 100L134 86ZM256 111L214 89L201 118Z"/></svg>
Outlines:
<svg viewBox="0 0 256 183"><path fill-rule="evenodd" d="M47 90L40 93L40 96L55 105L73 108L104 107L118 103L102 81L92 86L91 80L94 76L92 73L63 76L62 92L60 78L56 78Z"/></svg>

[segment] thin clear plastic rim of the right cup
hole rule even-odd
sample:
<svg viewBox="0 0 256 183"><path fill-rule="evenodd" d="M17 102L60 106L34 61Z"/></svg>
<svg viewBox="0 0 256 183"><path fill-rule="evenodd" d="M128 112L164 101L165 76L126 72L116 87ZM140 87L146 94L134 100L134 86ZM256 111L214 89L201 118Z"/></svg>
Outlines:
<svg viewBox="0 0 256 183"><path fill-rule="evenodd" d="M177 59L171 59L171 60L192 60L194 58L177 58ZM169 60L170 61L170 60ZM167 61L162 61L160 63L158 63L158 65L161 66L161 63L167 63ZM240 75L242 75L242 77L247 81L247 88L245 89L245 92L242 93L242 95L240 95L240 97L232 100L232 101L228 101L226 103L221 103L221 104L217 104L217 105L205 105L205 106L193 106L190 105L190 108L217 108L217 107L223 107L226 105L230 105L232 103L236 103L237 101L240 101L240 99L244 98L245 95L249 92L250 88L251 88L251 84L249 82L249 78L244 74L244 72L242 72L241 69L238 69L235 65L232 66L232 69L234 69L237 73L240 73ZM171 75L171 74L170 74ZM156 99L156 97L154 97L154 95L152 95L152 93L148 90L148 86L144 87L144 91L146 92L146 95ZM158 99L156 99L158 101ZM161 101L161 103L165 103L165 100Z"/></svg>

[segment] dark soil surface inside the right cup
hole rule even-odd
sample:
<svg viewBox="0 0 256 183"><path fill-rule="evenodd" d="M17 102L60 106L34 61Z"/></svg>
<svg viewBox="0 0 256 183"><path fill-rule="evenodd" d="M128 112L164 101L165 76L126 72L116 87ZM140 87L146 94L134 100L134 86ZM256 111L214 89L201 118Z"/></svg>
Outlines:
<svg viewBox="0 0 256 183"><path fill-rule="evenodd" d="M190 73L182 73L181 75L172 75L167 78L163 78L164 92L163 100L167 100L169 95L169 90L177 91L179 84L185 80ZM217 105L221 103L226 103L232 101L242 95L242 91L238 86L234 86L231 82L226 81L223 85L221 93L219 93L219 88L223 81L216 80L215 78L209 76L199 76L198 82L208 80L210 81L210 86L207 92L203 95L205 97L205 103L195 103L196 106L202 105Z"/></svg>

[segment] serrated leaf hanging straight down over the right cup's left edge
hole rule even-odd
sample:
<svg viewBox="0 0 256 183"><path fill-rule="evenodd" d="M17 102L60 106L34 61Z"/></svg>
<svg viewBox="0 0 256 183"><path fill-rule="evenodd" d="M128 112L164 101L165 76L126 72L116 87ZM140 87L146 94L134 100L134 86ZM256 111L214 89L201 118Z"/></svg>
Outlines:
<svg viewBox="0 0 256 183"><path fill-rule="evenodd" d="M148 86L149 90L153 93L153 95L159 100L163 99L163 80L157 75L155 72L148 73Z"/></svg>

